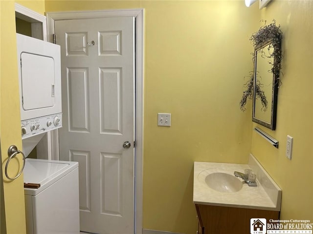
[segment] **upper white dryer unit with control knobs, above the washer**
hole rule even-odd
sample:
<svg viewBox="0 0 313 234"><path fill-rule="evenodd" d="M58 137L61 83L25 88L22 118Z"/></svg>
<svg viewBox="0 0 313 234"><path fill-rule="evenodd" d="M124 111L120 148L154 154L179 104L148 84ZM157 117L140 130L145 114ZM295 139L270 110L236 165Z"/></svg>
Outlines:
<svg viewBox="0 0 313 234"><path fill-rule="evenodd" d="M60 46L16 34L21 133L27 156L45 133L62 127Z"/></svg>

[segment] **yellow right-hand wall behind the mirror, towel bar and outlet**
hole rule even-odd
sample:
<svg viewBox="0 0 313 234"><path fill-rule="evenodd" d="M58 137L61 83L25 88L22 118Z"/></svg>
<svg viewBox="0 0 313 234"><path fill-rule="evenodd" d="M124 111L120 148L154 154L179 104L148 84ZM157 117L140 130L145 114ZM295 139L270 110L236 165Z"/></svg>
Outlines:
<svg viewBox="0 0 313 234"><path fill-rule="evenodd" d="M252 154L282 188L282 219L313 220L312 12L309 0L275 0L260 12L261 19L268 23L275 19L281 25L284 75L278 90L276 131L262 128L279 140L279 149L253 133ZM291 160L285 156L287 135L293 137Z"/></svg>

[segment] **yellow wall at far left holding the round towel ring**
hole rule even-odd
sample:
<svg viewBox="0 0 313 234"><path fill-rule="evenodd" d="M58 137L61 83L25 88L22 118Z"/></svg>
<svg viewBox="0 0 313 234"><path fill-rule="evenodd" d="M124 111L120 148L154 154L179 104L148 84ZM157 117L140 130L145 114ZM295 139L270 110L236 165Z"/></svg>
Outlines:
<svg viewBox="0 0 313 234"><path fill-rule="evenodd" d="M41 4L38 4L38 1L21 1L20 3L24 4L24 2L27 7L32 8L31 5L33 5L34 9L37 10L40 8L39 5L41 5L40 12L44 12L44 1L41 1ZM5 179L4 175L9 146L15 144L19 149L22 148L14 3L14 0L0 1L0 137L4 178L3 191L6 231L7 234L24 234L25 208L23 176L9 182ZM9 164L8 174L11 176L15 175L22 165L21 156L17 158L19 158L19 160L12 160Z"/></svg>

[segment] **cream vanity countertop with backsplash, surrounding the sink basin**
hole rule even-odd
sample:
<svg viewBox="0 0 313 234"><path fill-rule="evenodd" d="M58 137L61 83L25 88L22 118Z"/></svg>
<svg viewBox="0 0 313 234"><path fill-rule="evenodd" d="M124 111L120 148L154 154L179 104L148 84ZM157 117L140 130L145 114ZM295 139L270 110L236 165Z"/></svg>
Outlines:
<svg viewBox="0 0 313 234"><path fill-rule="evenodd" d="M235 171L244 173L246 168L251 168L257 174L258 186L248 186L244 180L238 178L243 181L243 188L238 192L227 193L211 189L205 183L205 176L210 173L222 170L234 175ZM194 162L193 202L195 204L280 211L281 192L252 155L249 157L249 164Z"/></svg>

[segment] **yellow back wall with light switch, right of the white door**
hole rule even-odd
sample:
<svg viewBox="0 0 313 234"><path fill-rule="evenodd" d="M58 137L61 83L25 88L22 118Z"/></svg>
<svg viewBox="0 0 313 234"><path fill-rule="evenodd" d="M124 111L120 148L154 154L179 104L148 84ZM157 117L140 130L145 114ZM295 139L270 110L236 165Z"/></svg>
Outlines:
<svg viewBox="0 0 313 234"><path fill-rule="evenodd" d="M244 76L253 69L249 37L258 7L242 1L45 1L46 12L144 8L143 228L197 230L193 162L246 163L251 103L242 113ZM157 113L172 113L158 127Z"/></svg>

